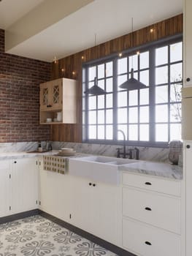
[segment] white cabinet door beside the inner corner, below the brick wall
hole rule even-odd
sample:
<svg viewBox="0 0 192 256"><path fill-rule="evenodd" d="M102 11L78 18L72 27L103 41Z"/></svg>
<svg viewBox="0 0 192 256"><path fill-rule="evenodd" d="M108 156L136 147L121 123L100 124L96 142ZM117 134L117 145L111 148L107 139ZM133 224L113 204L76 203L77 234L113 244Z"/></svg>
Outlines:
<svg viewBox="0 0 192 256"><path fill-rule="evenodd" d="M35 209L37 202L37 159L15 159L12 161L12 214Z"/></svg>

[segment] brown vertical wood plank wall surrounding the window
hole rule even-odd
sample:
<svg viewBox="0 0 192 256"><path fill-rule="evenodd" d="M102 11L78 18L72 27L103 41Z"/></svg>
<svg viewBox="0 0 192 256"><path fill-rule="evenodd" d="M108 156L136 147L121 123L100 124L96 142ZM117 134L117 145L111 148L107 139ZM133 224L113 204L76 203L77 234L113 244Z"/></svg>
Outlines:
<svg viewBox="0 0 192 256"><path fill-rule="evenodd" d="M153 29L153 32L150 31ZM58 60L52 64L51 78L74 78L78 81L77 89L77 124L54 124L51 126L51 140L66 142L82 142L82 63L99 59L110 54L119 53L128 48L144 45L147 42L169 37L183 32L183 15L163 20L144 29L104 42L96 47L82 50L72 56ZM134 37L134 45L131 45ZM83 58L83 59L82 59Z"/></svg>

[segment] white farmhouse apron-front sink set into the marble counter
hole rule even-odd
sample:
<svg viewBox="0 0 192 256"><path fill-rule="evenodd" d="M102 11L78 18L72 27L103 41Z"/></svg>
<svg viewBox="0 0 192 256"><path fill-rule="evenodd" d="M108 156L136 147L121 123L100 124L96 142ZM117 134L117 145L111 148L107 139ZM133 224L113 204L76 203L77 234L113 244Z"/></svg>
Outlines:
<svg viewBox="0 0 192 256"><path fill-rule="evenodd" d="M118 167L133 162L137 160L97 156L71 158L69 159L69 174L88 178L91 181L119 184Z"/></svg>

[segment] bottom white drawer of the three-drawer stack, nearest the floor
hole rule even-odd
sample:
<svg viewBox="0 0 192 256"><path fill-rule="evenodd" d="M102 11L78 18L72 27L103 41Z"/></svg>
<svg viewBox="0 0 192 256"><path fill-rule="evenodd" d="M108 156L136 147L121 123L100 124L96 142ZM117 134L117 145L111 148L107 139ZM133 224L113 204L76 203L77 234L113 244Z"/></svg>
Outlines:
<svg viewBox="0 0 192 256"><path fill-rule="evenodd" d="M123 247L142 256L180 256L180 236L123 219Z"/></svg>

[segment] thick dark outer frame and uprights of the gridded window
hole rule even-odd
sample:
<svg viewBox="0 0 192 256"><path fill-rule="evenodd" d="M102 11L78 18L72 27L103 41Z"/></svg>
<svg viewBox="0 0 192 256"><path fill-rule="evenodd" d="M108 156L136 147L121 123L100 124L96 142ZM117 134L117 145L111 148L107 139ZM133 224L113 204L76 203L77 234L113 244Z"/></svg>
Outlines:
<svg viewBox="0 0 192 256"><path fill-rule="evenodd" d="M158 147L158 148L165 148L169 145L168 142L157 142L155 141L155 49L156 48L161 48L169 44L174 44L177 42L183 42L183 34L176 34L172 37L166 37L164 39L160 39L158 41L150 42L146 45L141 45L135 48L129 48L128 50L123 50L122 51L122 58L123 56L131 56L134 55L137 50L139 50L140 53L145 52L146 50L150 51L150 92L149 92L149 97L150 97L150 103L149 103L149 108L150 108L150 121L149 121L149 141L141 141L141 140L126 140L126 145L128 146L150 146L150 147ZM112 144L112 145L119 145L122 143L122 140L118 140L118 118L117 118L117 111L118 111L118 106L117 106L117 98L118 98L118 91L117 91L117 84L118 84L118 59L120 59L120 56L118 56L118 53L112 54L110 56L104 57L102 59L95 59L93 61L88 61L82 64L82 100L83 100L83 105L84 107L82 108L82 113L84 115L84 122L82 124L82 141L84 143L99 143L99 144ZM88 68L92 67L94 65L99 65L99 64L104 64L109 61L113 61L113 139L112 140L99 140L99 139L88 139L88 95L85 94L84 92L86 89L88 89ZM183 64L183 60L182 60ZM169 79L169 78L168 78ZM170 100L170 80L168 81L168 88L169 88L169 98ZM104 88L106 89L106 88ZM171 103L169 102L168 108L170 108ZM138 104L138 108L139 108ZM139 121L138 121L139 124ZM170 119L166 124L170 125ZM106 124L104 124L106 125ZM98 124L97 124L98 126ZM139 130L139 129L138 129ZM170 129L168 129L170 130ZM138 131L139 132L139 131Z"/></svg>

